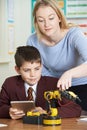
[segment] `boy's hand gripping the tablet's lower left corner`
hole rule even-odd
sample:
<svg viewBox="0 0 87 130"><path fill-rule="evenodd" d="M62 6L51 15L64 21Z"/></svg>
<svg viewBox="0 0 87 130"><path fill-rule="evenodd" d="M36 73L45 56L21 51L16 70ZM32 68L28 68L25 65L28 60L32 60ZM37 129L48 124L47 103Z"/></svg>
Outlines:
<svg viewBox="0 0 87 130"><path fill-rule="evenodd" d="M15 108L11 107L9 109L9 115L10 115L10 117L12 119L16 120L16 119L22 118L25 115L25 113L23 111L21 111L21 110L18 110L18 109L15 109Z"/></svg>

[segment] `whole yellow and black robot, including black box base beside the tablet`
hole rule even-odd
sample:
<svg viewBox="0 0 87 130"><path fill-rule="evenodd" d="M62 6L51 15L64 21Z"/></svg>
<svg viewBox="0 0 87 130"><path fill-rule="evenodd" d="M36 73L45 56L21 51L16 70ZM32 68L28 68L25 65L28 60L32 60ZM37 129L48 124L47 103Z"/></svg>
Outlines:
<svg viewBox="0 0 87 130"><path fill-rule="evenodd" d="M46 114L40 114L39 112L28 111L27 115L23 117L23 123L27 124L39 124L39 125L60 125L61 117L58 113L58 99L62 100L65 97L69 100L80 101L79 97L71 91L46 91L44 92L44 98L47 100L48 109Z"/></svg>

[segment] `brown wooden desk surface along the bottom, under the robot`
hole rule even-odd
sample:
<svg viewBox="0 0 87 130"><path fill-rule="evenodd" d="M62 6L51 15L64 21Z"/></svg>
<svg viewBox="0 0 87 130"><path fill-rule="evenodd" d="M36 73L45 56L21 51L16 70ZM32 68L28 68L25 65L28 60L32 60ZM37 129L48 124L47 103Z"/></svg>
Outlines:
<svg viewBox="0 0 87 130"><path fill-rule="evenodd" d="M87 130L87 122L77 121L77 118L62 119L59 126L43 126L23 124L22 120L0 119L0 123L7 124L1 130Z"/></svg>

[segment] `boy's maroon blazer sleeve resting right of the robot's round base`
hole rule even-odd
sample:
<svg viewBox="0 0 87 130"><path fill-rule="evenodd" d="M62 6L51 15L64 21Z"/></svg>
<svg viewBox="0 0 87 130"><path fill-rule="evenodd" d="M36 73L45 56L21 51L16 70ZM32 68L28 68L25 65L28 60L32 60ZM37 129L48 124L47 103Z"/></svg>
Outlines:
<svg viewBox="0 0 87 130"><path fill-rule="evenodd" d="M81 115L81 107L73 101L62 98L62 101L58 100L58 104L58 113L61 118L73 118Z"/></svg>

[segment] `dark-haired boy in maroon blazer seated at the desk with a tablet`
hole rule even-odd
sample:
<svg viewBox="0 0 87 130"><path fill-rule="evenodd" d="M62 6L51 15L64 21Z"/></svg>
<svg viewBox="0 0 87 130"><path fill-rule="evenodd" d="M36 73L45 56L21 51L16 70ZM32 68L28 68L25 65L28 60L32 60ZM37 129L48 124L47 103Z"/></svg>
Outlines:
<svg viewBox="0 0 87 130"><path fill-rule="evenodd" d="M33 96L36 109L44 113L46 100L44 92L56 90L58 79L42 77L42 62L39 51L32 46L20 46L15 53L15 70L19 75L9 77L2 85L0 93L0 118L22 118L23 111L11 108L10 101L27 100L27 90L34 89ZM58 112L61 118L80 116L81 108L76 103L65 98L58 100Z"/></svg>

